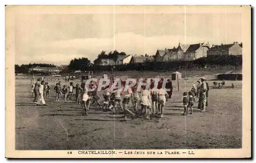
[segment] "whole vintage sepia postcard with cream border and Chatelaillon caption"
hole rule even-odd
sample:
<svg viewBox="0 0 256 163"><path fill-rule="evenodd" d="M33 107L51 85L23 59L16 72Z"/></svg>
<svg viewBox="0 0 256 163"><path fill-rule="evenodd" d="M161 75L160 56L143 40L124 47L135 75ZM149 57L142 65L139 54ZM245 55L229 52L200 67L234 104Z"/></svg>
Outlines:
<svg viewBox="0 0 256 163"><path fill-rule="evenodd" d="M251 157L250 6L6 6L7 158Z"/></svg>

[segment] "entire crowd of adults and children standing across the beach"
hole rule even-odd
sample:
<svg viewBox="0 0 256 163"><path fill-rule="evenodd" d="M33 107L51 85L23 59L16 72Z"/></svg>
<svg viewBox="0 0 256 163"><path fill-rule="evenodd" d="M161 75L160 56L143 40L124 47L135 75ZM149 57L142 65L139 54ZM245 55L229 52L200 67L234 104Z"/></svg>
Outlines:
<svg viewBox="0 0 256 163"><path fill-rule="evenodd" d="M50 98L50 89L51 86L48 82L40 81L37 79L31 86L32 96L34 96L33 102L36 105L42 103L44 106L47 105L45 98ZM135 117L142 117L149 120L153 115L155 117L162 118L164 114L164 106L168 99L172 98L173 94L173 85L172 81L167 80L165 87L162 88L164 78L156 84L155 81L151 79L150 84L147 88L145 85L139 85L138 82L129 87L130 83L125 83L121 81L120 88L111 89L113 84L113 79L110 79L111 84L101 88L103 102L100 103L100 97L98 95L98 84L91 81L89 83L89 91L86 87L86 83L81 81L81 84L78 83L74 86L73 82L69 83L69 86L61 86L61 82L58 81L56 86L53 88L55 91L55 100L58 102L62 96L63 101L66 103L69 100L75 101L76 104L81 104L82 109L84 110L84 115L88 115L90 106L95 103L103 111L111 111L111 113L116 114L118 111L124 114L124 120L127 120L127 116L131 116L132 119ZM143 81L146 82L146 79ZM138 91L138 85L141 86L140 95ZM124 88L127 89L124 91ZM191 90L188 92L183 92L183 107L184 112L182 115L188 114L188 109L190 108L190 113L193 114L194 103L198 99L198 110L205 112L206 107L208 106L208 91L209 85L206 82L205 78L200 78L198 80L198 85L193 84ZM132 108L128 107L130 102L132 103ZM138 109L138 105L141 106Z"/></svg>

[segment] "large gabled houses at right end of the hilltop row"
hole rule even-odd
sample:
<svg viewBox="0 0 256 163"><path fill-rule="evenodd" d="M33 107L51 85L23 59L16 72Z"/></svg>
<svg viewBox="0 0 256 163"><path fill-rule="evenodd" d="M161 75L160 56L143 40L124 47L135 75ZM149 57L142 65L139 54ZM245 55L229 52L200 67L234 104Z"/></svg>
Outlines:
<svg viewBox="0 0 256 163"><path fill-rule="evenodd" d="M242 55L243 44L233 42L231 44L212 45L209 43L181 44L177 48L157 50L156 61L195 60L210 55Z"/></svg>

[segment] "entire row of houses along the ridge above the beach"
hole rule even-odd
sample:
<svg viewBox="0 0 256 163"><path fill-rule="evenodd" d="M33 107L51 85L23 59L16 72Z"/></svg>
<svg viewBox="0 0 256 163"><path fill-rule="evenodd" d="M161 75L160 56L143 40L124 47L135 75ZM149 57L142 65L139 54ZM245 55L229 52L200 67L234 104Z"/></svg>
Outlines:
<svg viewBox="0 0 256 163"><path fill-rule="evenodd" d="M178 61L196 60L210 55L242 55L243 44L233 42L231 44L209 45L209 43L181 44L173 49L157 50L155 56L118 56L117 60L106 56L100 59L99 65L120 65L129 63L144 63L148 61Z"/></svg>

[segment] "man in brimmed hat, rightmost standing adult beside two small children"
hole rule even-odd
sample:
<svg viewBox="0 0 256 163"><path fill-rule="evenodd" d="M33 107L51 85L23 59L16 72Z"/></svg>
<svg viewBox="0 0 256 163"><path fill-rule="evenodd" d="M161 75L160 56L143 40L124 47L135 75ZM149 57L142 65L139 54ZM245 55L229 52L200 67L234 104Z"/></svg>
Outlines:
<svg viewBox="0 0 256 163"><path fill-rule="evenodd" d="M206 111L206 91L207 91L207 85L205 82L205 78L202 77L200 79L202 81L201 86L200 86L200 97L199 97L199 104L198 106L200 106L200 111L205 112Z"/></svg>

